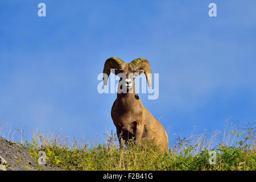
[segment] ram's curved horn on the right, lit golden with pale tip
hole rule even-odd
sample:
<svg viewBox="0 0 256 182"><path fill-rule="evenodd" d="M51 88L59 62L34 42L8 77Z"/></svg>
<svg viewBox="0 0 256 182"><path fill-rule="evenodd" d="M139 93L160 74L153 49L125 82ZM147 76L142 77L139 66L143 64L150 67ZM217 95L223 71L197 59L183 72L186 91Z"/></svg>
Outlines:
<svg viewBox="0 0 256 182"><path fill-rule="evenodd" d="M131 63L129 63L129 64L131 65L131 68L133 68L135 71L137 71L138 69L143 69L144 73L146 75L146 78L147 78L147 84L148 84L148 86L151 86L152 72L151 72L151 68L150 68L150 64L149 64L148 60L146 60L144 58L138 58L138 59L131 61Z"/></svg>

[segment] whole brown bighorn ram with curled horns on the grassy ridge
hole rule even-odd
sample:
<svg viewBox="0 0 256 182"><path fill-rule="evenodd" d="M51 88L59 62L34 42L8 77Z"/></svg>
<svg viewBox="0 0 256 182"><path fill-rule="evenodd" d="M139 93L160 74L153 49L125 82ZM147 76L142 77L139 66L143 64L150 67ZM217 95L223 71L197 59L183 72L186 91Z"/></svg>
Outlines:
<svg viewBox="0 0 256 182"><path fill-rule="evenodd" d="M146 75L148 86L151 86L152 73L148 61L139 58L127 64L117 57L110 57L104 65L104 85L108 84L110 69L114 70L114 74L120 77L118 88L126 91L117 93L117 99L114 101L111 111L120 148L122 149L125 144L127 145L129 139L134 139L135 143L150 140L161 151L168 150L166 130L142 105L135 90L134 79L143 73Z"/></svg>

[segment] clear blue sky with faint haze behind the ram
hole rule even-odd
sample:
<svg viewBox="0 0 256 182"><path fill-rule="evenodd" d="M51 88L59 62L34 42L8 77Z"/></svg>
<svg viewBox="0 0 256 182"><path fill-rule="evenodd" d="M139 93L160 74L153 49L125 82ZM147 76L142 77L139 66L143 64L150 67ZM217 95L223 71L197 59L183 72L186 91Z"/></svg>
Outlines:
<svg viewBox="0 0 256 182"><path fill-rule="evenodd" d="M38 16L46 3L47 16ZM217 17L208 5L217 5ZM86 139L114 130L105 60L144 57L169 137L256 120L255 1L0 1L0 123ZM112 75L113 76L113 75ZM153 85L154 86L154 85ZM105 122L106 119L106 122Z"/></svg>

